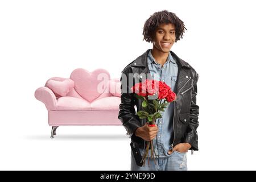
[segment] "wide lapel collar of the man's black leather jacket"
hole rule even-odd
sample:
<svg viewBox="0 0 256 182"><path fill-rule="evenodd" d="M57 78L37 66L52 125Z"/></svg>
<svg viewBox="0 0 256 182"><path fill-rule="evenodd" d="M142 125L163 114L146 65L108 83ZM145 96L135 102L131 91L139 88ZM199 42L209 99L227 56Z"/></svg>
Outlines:
<svg viewBox="0 0 256 182"><path fill-rule="evenodd" d="M134 62L131 66L133 66L133 67L147 67L147 55L148 55L149 51L150 51L150 49L147 49L147 51L144 52L143 55L137 57L137 59L134 60ZM191 69L191 67L189 67L188 63L186 63L185 61L180 59L174 52L170 51L170 53L171 53L172 57L174 57L174 59L177 61L177 64L180 67L185 67L185 68Z"/></svg>

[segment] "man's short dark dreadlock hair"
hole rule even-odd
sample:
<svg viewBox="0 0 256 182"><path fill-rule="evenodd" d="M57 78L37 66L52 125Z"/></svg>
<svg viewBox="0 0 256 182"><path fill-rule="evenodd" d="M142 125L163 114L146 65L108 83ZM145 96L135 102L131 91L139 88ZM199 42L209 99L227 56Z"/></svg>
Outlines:
<svg viewBox="0 0 256 182"><path fill-rule="evenodd" d="M174 23L176 36L175 42L177 42L177 40L180 40L180 38L182 39L183 33L185 32L185 30L187 30L187 28L185 28L184 26L184 22L181 21L175 13L171 13L167 10L158 11L146 20L143 28L143 40L153 43L156 28L158 28L159 24L161 23Z"/></svg>

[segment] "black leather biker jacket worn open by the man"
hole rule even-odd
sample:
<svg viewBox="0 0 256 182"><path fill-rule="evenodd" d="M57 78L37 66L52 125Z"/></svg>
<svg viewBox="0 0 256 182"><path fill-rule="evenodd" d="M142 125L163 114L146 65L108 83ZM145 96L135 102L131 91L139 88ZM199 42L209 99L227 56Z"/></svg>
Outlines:
<svg viewBox="0 0 256 182"><path fill-rule="evenodd" d="M142 73L144 73L142 75L147 75L147 73L150 73L147 65L148 51L150 51L150 49L127 65L125 69L123 69L122 73L126 75L127 78L129 77L129 73L138 73L138 76ZM175 90L173 90L176 93L177 99L174 101L174 142L172 144L175 146L178 143L187 142L192 146L190 150L198 150L198 136L196 129L199 126L199 106L196 105L196 84L199 75L195 69L191 67L191 65L177 57L174 52L170 52L175 60L177 60L177 65L179 68ZM135 82L135 77L136 76L134 76L133 83ZM140 76L138 79L142 81ZM134 93L128 92L128 89L130 89L128 80L129 79L123 79L122 77L120 79L121 90L124 89L122 88L123 85L127 85L127 91L126 93L123 93L123 91L121 92L121 104L119 105L118 118L127 130L127 133L130 135L131 147L133 149L135 160L137 160L138 164L138 160L140 158L136 157L136 155L139 154L138 147L144 148L144 140L135 136L134 132L138 127L144 125L146 119L139 119L139 117L136 115L134 105L136 105L137 110L139 111L141 110L142 101L138 100L137 97L134 96ZM124 81L126 81L126 83Z"/></svg>

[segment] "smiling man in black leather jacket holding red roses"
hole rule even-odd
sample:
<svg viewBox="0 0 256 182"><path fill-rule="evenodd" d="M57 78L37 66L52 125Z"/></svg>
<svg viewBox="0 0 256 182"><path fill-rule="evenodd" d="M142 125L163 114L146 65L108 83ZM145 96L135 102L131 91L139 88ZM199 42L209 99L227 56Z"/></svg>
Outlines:
<svg viewBox="0 0 256 182"><path fill-rule="evenodd" d="M183 21L174 13L167 10L154 13L143 28L143 40L153 43L153 48L122 71L118 118L131 138L131 170L187 170L187 151L198 150L199 106L196 105L196 94L199 75L191 65L170 51L185 30ZM137 111L142 110L142 101L130 92L136 79L142 81L143 74L149 75L146 78L166 82L176 93L176 101L168 104L161 113L162 118L156 119L155 127L149 127L146 119L139 119L136 115L134 106ZM149 140L153 140L157 155L156 164L154 159L146 160L150 167L141 163L145 141Z"/></svg>

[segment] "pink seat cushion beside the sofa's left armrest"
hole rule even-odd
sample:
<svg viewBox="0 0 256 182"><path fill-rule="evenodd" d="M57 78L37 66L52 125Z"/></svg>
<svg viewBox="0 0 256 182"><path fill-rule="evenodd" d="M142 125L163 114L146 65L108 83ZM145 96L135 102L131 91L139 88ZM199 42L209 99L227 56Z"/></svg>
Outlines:
<svg viewBox="0 0 256 182"><path fill-rule="evenodd" d="M88 101L69 96L58 98L56 108L57 110L91 110Z"/></svg>

